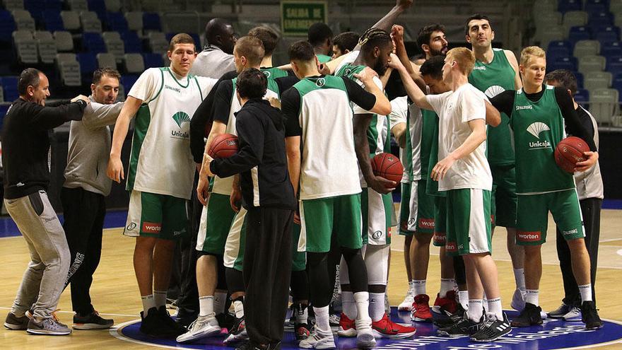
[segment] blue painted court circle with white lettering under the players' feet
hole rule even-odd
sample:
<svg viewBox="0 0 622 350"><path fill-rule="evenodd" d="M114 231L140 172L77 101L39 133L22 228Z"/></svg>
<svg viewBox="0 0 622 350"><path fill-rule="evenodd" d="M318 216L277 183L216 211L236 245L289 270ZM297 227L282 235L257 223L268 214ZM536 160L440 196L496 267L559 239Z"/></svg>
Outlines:
<svg viewBox="0 0 622 350"><path fill-rule="evenodd" d="M507 311L508 317L516 317L515 311ZM394 322L409 324L410 313L397 312L397 308L392 308L392 320ZM440 349L521 349L521 350L551 350L569 349L577 346L597 346L609 342L616 342L622 339L622 325L615 322L606 321L601 329L586 330L582 322L564 322L563 320L545 320L544 325L512 329L510 334L492 343L470 342L465 338L437 337L436 327L430 323L413 322L417 327L417 333L411 339L377 339L375 349L393 350L440 350ZM129 342L139 342L142 344L153 344L177 349L205 349L223 350L233 349L223 345L225 335L204 339L193 344L177 344L172 339L154 339L145 337L139 332L140 322L131 323L118 329L116 336ZM336 331L336 329L334 329ZM335 337L337 349L356 349L355 338ZM286 329L285 339L281 348L299 349L295 344L295 337L291 329ZM604 348L603 348L604 349Z"/></svg>

